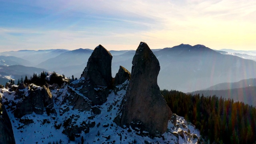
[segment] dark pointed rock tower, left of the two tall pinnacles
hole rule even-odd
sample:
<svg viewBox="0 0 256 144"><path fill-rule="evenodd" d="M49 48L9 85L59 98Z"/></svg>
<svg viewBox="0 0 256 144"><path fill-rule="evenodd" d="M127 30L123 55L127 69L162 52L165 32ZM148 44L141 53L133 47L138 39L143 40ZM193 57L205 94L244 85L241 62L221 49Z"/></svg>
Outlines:
<svg viewBox="0 0 256 144"><path fill-rule="evenodd" d="M73 88L92 101L92 105L106 102L112 88L111 73L112 55L103 46L97 46L88 59L86 68L81 74L80 82L71 83Z"/></svg>

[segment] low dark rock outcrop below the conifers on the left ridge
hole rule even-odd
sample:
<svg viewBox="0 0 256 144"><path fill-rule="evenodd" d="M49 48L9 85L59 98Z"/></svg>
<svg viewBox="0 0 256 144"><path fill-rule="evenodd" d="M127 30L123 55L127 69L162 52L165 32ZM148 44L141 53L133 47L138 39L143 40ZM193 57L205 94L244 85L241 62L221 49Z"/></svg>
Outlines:
<svg viewBox="0 0 256 144"><path fill-rule="evenodd" d="M21 96L17 95L17 98ZM41 89L31 90L28 96L24 96L21 102L16 105L14 117L21 118L26 114L43 114L44 108L47 114L55 113L52 94L48 85L42 86Z"/></svg>

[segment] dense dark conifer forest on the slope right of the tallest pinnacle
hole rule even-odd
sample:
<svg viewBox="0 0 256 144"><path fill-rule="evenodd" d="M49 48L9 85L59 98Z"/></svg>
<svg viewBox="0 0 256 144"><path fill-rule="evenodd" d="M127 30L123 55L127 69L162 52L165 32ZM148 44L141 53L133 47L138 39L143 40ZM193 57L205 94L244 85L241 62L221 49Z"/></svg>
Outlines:
<svg viewBox="0 0 256 144"><path fill-rule="evenodd" d="M256 108L217 96L161 90L173 113L200 130L202 138L215 144L256 144Z"/></svg>

